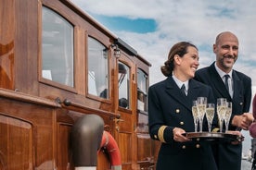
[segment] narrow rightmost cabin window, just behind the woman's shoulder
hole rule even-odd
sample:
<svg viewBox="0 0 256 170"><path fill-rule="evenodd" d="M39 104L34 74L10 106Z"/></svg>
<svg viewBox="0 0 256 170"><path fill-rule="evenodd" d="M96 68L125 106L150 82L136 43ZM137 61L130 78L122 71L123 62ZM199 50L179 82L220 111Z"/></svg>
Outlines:
<svg viewBox="0 0 256 170"><path fill-rule="evenodd" d="M147 74L141 69L137 71L137 107L147 111Z"/></svg>

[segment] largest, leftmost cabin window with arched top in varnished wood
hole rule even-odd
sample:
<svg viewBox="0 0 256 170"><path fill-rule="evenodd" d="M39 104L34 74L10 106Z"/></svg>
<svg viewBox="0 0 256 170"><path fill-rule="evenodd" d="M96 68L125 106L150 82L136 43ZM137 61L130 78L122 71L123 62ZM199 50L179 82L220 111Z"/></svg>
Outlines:
<svg viewBox="0 0 256 170"><path fill-rule="evenodd" d="M45 6L42 21L42 76L73 87L73 26Z"/></svg>

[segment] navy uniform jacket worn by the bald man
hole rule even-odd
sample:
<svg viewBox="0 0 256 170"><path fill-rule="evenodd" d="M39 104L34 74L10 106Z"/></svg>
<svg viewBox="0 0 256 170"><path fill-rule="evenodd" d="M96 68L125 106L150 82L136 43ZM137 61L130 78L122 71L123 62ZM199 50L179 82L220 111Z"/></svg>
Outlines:
<svg viewBox="0 0 256 170"><path fill-rule="evenodd" d="M233 112L230 120L234 115L242 115L250 111L251 100L251 79L243 73L233 70L232 79L234 84L233 99L230 97L228 91L224 87L224 81L219 76L214 67L214 63L210 67L198 69L195 79L211 86L213 91L214 100L216 103L217 98L226 98L233 103ZM229 130L236 130L229 124ZM218 150L217 150L218 149ZM216 162L219 170L240 170L241 169L241 152L242 145L232 145L230 143L218 144L213 148L216 152Z"/></svg>

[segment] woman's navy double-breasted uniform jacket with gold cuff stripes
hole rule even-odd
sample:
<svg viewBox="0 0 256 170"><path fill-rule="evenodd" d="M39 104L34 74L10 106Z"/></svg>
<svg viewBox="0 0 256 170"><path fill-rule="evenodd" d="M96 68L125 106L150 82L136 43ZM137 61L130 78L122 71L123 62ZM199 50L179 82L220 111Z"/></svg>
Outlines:
<svg viewBox="0 0 256 170"><path fill-rule="evenodd" d="M213 102L211 87L195 79L190 79L188 85L187 96L182 93L172 77L148 88L149 134L153 140L162 142L157 170L216 170L209 143L201 140L173 140L173 128L183 128L186 132L194 131L191 111L193 100L200 96ZM165 127L163 131L160 130L162 127Z"/></svg>

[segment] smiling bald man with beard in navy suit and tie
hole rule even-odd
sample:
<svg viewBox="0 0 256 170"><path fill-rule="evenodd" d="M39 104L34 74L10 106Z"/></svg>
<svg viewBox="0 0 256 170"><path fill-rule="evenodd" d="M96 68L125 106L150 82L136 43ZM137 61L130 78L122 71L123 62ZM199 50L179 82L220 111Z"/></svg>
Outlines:
<svg viewBox="0 0 256 170"><path fill-rule="evenodd" d="M199 69L195 79L211 86L215 101L217 98L226 98L233 103L228 130L248 130L253 120L252 115L248 113L251 79L233 69L238 57L237 36L230 31L220 33L213 44L213 52L216 61L210 67ZM219 170L241 169L241 143L222 142L212 145L212 149Z"/></svg>

